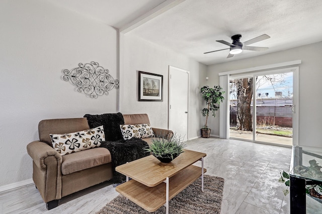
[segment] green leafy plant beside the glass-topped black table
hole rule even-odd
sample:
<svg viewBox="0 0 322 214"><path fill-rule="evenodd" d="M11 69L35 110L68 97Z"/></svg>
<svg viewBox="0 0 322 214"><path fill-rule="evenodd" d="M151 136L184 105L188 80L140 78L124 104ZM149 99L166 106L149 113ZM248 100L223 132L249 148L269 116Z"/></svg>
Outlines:
<svg viewBox="0 0 322 214"><path fill-rule="evenodd" d="M321 166L318 165L318 163L316 163L316 160L310 160L308 161L310 166L302 166L302 165L298 165L296 166L295 170L297 172L299 172L299 174L301 175L308 175L309 177L314 177L314 178L322 178L322 171L320 170L320 168L322 168ZM279 182L285 183L285 185L287 186L286 189L283 190L284 195L287 195L289 193L288 187L290 186L290 175L283 171L280 172L281 177L279 178ZM321 184L312 184L312 185L306 185L305 186L306 189L306 193L322 199L322 185Z"/></svg>

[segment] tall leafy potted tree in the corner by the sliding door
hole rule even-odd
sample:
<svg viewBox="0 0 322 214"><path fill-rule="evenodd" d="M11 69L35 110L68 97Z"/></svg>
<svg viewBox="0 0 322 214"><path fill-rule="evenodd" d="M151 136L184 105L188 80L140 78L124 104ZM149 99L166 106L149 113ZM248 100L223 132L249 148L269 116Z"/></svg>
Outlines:
<svg viewBox="0 0 322 214"><path fill-rule="evenodd" d="M215 112L219 109L219 103L223 101L222 96L225 92L222 91L220 86L214 86L210 88L209 86L204 86L200 89L202 98L206 101L206 108L201 110L202 116L206 117L206 123L201 128L201 137L209 138L211 129L208 128L208 116L209 112L212 112L212 116L216 116Z"/></svg>

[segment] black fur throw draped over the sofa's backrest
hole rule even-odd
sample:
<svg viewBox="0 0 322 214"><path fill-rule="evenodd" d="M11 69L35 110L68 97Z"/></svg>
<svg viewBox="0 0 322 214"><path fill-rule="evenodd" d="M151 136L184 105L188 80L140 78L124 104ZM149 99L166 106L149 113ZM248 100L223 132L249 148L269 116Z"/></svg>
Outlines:
<svg viewBox="0 0 322 214"><path fill-rule="evenodd" d="M105 132L105 139L110 141L123 139L120 130L120 125L124 124L122 113L108 113L101 115L86 114L90 128L103 125Z"/></svg>

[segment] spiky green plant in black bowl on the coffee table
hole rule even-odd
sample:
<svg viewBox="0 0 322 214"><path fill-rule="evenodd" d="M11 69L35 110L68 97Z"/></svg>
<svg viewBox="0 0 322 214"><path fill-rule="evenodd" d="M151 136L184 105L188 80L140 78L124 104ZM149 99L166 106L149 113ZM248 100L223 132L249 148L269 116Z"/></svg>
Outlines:
<svg viewBox="0 0 322 214"><path fill-rule="evenodd" d="M151 152L154 157L163 163L170 163L183 153L186 147L183 138L176 133L170 139L167 139L165 136L154 137L151 142L144 150Z"/></svg>

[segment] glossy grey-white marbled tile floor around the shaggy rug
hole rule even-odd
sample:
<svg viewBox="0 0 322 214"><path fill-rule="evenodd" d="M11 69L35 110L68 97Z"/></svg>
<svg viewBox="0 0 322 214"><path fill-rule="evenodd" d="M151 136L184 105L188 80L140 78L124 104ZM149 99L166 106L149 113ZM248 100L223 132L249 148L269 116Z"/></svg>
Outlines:
<svg viewBox="0 0 322 214"><path fill-rule="evenodd" d="M282 192L285 185L277 182L279 172L289 170L290 148L219 138L191 140L187 148L207 153L207 174L225 178L222 214L290 212L290 197ZM0 192L0 213L95 213L117 195L107 181L46 210L35 185L29 184Z"/></svg>

